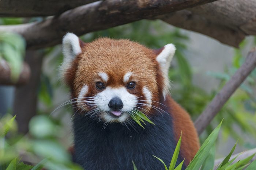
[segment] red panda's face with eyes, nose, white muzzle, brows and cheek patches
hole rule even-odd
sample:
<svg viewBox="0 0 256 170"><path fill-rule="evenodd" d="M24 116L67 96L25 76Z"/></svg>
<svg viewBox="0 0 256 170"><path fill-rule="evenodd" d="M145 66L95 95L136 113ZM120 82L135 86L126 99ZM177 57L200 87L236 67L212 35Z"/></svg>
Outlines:
<svg viewBox="0 0 256 170"><path fill-rule="evenodd" d="M119 86L108 85L107 73L98 75L101 78L95 80L95 87L91 87L97 89L97 93L91 95L89 86L83 85L77 97L78 107L87 111L86 114L106 122L124 122L136 111L146 112L151 108L150 90L140 88L138 80L131 79L133 73L126 73Z"/></svg>

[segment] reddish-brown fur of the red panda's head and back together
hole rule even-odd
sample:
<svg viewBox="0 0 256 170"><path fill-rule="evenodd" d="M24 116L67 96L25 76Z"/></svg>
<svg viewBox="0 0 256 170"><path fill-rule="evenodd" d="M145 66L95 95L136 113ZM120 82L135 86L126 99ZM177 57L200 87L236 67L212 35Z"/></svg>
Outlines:
<svg viewBox="0 0 256 170"><path fill-rule="evenodd" d="M106 86L125 86L123 77L127 72L132 72L130 80L136 82L134 90L128 90L138 97L144 96L142 88L147 87L152 95L153 105L158 107L162 96L163 76L156 61L162 49L151 50L129 40L113 40L100 38L91 43L82 43L82 53L73 61L70 69L65 73L65 81L72 89L72 97L78 94L84 84L89 86L87 96L94 96L100 91L95 88L97 81L102 81L98 73L107 73L109 80ZM180 107L169 95L166 96L171 108L175 139L180 138L182 131L181 154L186 157L185 163L193 159L199 149L198 136L188 113ZM145 100L145 98L140 98ZM155 101L155 102L154 102ZM147 108L148 109L148 108ZM158 112L155 112L158 113ZM150 114L150 110L148 113Z"/></svg>

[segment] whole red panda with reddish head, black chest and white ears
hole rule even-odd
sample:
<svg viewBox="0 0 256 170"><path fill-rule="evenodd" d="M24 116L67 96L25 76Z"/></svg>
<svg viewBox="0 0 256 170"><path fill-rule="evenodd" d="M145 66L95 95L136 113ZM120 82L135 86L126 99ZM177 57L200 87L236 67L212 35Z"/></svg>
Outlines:
<svg viewBox="0 0 256 170"><path fill-rule="evenodd" d="M183 169L199 149L188 113L169 94L168 70L175 53L168 44L152 50L127 39L82 42L63 38L61 77L74 107L74 161L90 170L160 170L152 155L170 162L182 132L177 165ZM131 119L141 111L153 124Z"/></svg>

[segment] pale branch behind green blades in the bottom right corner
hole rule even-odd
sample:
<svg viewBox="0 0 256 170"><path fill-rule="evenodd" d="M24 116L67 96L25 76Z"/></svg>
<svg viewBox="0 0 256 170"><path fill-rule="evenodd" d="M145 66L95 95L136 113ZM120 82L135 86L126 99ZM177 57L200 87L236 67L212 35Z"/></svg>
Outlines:
<svg viewBox="0 0 256 170"><path fill-rule="evenodd" d="M238 157L234 160L234 162L233 162L233 163L236 163L236 162L238 162L239 160L244 159L244 158L247 158L247 157L249 157L249 156L251 156L251 155L253 155L253 154L255 154L255 153L256 153L256 148L251 149L251 150L248 150L248 151L245 151L245 152L241 152L241 153L239 153L239 154L234 154L234 155L231 156L231 158L230 158L229 160L234 159L236 156L238 156ZM250 162L254 161L255 159L256 159L256 155L252 158L252 160L251 160ZM223 160L224 160L224 158L215 160L215 162L214 162L214 170L217 169L218 165L219 165ZM233 163L232 163L232 164L233 164Z"/></svg>

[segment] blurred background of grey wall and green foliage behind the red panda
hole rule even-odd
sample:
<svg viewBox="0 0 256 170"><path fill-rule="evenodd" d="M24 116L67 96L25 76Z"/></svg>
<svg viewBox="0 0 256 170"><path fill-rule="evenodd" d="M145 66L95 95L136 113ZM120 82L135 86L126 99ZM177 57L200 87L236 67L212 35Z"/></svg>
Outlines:
<svg viewBox="0 0 256 170"><path fill-rule="evenodd" d="M33 18L33 21L41 19ZM23 22L31 21L23 18L0 18L0 24ZM171 93L193 120L202 113L244 62L248 51L256 45L256 38L249 36L240 44L239 49L235 49L205 35L170 26L161 20L141 20L91 32L80 38L84 42L90 42L104 36L131 39L152 49L163 47L167 43L176 45L177 51L169 72ZM22 39L19 36L16 38ZM15 38L13 40L16 42ZM4 38L0 39L0 43L4 42ZM8 58L3 51L0 50L0 58ZM61 166L74 169L76 165L72 164L67 152L73 141L74 113L71 105L65 103L70 99L69 90L61 84L58 76L58 67L63 58L61 45L29 51L26 55L26 59L37 58L37 61L28 61L34 66L35 71L31 72L34 84L17 88L0 86L0 122L3 124L16 115L8 134L12 147L12 152L8 153L10 158L7 154L2 154L1 158L0 153L0 160L10 161L18 154L22 155L25 162L38 162L42 158L53 156L57 160L51 160L49 167L64 168L60 164L65 162ZM24 51L20 51L20 56L22 62ZM10 58L9 61L16 62ZM200 140L204 141L223 117L216 144L216 158L227 155L238 139L238 147L234 153L256 147L256 70L233 94L200 136Z"/></svg>

